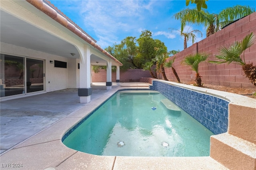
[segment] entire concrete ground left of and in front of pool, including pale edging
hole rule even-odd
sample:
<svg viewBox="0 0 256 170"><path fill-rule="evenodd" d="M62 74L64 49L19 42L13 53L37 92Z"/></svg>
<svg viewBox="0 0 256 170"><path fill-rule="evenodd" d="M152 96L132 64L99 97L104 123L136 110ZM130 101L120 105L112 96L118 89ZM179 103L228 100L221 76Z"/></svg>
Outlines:
<svg viewBox="0 0 256 170"><path fill-rule="evenodd" d="M106 90L104 83L95 83L92 85L92 101L87 104L79 103L76 89L64 89L1 102L1 138L3 138L1 146L2 144L5 146L0 157L1 169L227 169L210 156L97 156L73 150L62 143L62 136L72 126L116 91L148 89L148 85L148 83L120 83L112 86L111 90ZM3 112L5 116L2 116ZM23 121L19 121L18 118ZM8 131L9 128L11 130ZM8 145L12 140L14 142Z"/></svg>

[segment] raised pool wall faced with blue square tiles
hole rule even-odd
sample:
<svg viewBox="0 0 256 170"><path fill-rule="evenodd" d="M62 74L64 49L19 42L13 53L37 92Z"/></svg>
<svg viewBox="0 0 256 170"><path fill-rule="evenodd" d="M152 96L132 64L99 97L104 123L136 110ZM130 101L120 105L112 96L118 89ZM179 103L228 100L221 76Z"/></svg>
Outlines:
<svg viewBox="0 0 256 170"><path fill-rule="evenodd" d="M160 81L153 81L150 90L162 93L214 134L227 132L228 101Z"/></svg>

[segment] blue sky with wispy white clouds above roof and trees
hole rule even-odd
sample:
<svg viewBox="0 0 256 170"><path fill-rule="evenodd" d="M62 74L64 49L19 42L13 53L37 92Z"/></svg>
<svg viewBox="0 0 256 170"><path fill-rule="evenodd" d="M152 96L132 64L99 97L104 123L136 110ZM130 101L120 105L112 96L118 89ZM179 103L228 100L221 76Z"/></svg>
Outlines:
<svg viewBox="0 0 256 170"><path fill-rule="evenodd" d="M180 37L180 21L174 14L186 8L185 0L50 0L73 22L92 36L102 48L120 43L128 36L139 38L143 30L150 30L154 39L166 45L168 51L184 49L184 39ZM256 9L256 0L208 0L208 12L219 13L235 5L246 5ZM206 37L206 28L188 25L186 30L200 30L196 42ZM188 47L192 42L188 42Z"/></svg>

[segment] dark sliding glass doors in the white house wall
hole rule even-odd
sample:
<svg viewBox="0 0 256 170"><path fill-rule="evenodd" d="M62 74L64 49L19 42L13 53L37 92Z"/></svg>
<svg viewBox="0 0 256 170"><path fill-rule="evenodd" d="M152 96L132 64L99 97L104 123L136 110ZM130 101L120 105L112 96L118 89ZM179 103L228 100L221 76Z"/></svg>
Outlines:
<svg viewBox="0 0 256 170"><path fill-rule="evenodd" d="M44 61L1 54L0 97L44 90Z"/></svg>

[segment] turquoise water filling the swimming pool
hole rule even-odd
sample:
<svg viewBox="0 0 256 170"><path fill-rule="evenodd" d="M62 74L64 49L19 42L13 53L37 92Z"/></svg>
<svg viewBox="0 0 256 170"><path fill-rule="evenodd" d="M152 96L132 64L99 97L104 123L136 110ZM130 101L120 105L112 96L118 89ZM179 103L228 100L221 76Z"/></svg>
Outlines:
<svg viewBox="0 0 256 170"><path fill-rule="evenodd" d="M120 91L63 143L105 156L209 156L211 135L157 91Z"/></svg>

